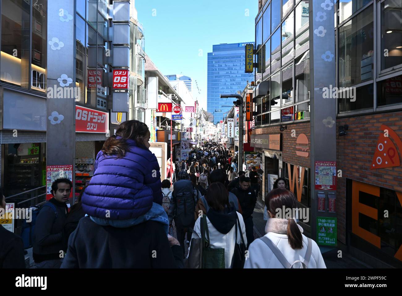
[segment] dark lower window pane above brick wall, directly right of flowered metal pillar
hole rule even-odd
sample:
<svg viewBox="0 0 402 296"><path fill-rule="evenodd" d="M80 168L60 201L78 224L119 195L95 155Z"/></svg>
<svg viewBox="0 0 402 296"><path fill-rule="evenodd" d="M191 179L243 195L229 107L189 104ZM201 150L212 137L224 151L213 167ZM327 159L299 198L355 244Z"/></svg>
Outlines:
<svg viewBox="0 0 402 296"><path fill-rule="evenodd" d="M338 93L339 113L373 108L374 95L373 84L357 87L352 89L354 98L351 98L351 91L343 91ZM356 101L351 101L356 99Z"/></svg>

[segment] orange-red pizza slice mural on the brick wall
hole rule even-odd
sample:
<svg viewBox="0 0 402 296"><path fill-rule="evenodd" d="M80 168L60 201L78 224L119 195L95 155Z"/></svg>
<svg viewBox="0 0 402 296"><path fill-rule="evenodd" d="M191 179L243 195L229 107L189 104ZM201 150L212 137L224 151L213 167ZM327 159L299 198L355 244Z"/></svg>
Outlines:
<svg viewBox="0 0 402 296"><path fill-rule="evenodd" d="M371 170L400 166L399 154L392 140L397 144L399 151L402 151L402 141L396 132L388 126L381 125L381 130L388 130L389 137L385 137L384 133L379 135L371 162Z"/></svg>

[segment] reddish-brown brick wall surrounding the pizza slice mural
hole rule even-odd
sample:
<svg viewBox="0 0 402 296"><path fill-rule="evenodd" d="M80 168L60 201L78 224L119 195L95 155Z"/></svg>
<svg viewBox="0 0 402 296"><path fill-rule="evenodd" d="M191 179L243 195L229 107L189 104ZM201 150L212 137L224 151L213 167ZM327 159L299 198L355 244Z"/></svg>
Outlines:
<svg viewBox="0 0 402 296"><path fill-rule="evenodd" d="M345 243L346 225L346 178L390 188L402 192L402 166L371 170L371 162L378 136L384 131L381 124L392 128L402 139L402 112L389 112L337 118L336 125L349 125L347 135L336 139L336 169L342 170L343 178L337 180L338 239ZM390 138L391 139L391 138ZM395 141L397 154L402 155Z"/></svg>

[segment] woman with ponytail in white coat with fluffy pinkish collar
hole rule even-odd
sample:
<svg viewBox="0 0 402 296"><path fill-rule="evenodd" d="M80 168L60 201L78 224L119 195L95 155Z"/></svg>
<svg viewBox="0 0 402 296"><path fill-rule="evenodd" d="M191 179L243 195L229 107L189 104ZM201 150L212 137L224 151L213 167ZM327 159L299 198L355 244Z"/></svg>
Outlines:
<svg viewBox="0 0 402 296"><path fill-rule="evenodd" d="M307 268L326 268L317 243L302 234L303 228L296 224L293 193L281 188L271 190L265 205L270 217L266 234L250 244L244 268L290 268L293 263L293 268L301 268L301 262Z"/></svg>

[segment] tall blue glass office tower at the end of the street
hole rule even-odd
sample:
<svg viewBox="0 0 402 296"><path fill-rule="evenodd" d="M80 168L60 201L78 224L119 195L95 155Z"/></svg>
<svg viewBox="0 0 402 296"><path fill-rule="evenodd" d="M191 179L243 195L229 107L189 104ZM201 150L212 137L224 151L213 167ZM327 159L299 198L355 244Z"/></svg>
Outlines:
<svg viewBox="0 0 402 296"><path fill-rule="evenodd" d="M214 123L222 120L233 106L233 98L221 99L220 94L237 93L246 87L247 81L254 79L253 73L244 72L245 45L251 43L254 44L217 44L208 53L207 111L213 114Z"/></svg>

